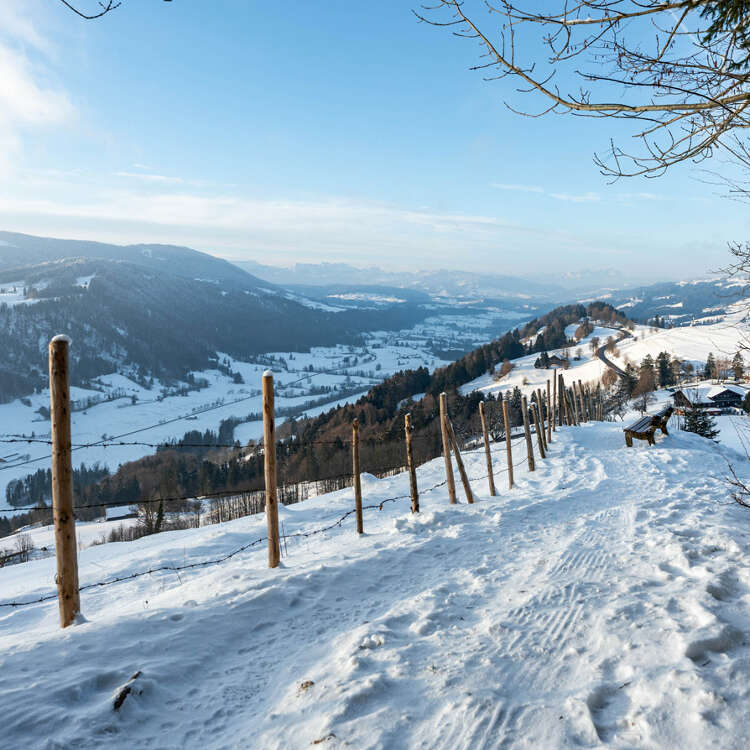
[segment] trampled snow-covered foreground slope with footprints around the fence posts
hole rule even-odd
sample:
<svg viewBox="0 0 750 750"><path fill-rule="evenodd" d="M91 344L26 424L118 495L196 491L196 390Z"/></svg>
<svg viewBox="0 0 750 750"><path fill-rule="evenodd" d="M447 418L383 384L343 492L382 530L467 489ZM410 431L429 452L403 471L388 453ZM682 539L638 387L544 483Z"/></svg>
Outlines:
<svg viewBox="0 0 750 750"><path fill-rule="evenodd" d="M7 747L745 748L750 511L730 449L674 431L625 449L616 424L564 428L551 456L474 505L443 487L220 564L0 608ZM520 446L516 456L522 455ZM471 477L485 473L468 453ZM424 491L442 459L419 469ZM460 485L459 485L460 486ZM365 504L408 494L363 483ZM281 509L287 534L352 507L344 490ZM84 549L83 585L210 559L265 519ZM54 560L0 570L1 601L54 589ZM119 711L113 700L140 672Z"/></svg>

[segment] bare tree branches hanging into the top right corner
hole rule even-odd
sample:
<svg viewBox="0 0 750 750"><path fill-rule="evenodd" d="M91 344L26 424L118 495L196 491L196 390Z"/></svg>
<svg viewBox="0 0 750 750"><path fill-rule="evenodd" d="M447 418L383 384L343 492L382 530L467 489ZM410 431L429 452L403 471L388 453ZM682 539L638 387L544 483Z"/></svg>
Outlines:
<svg viewBox="0 0 750 750"><path fill-rule="evenodd" d="M750 166L746 2L435 0L415 14L478 41L488 80L536 95L542 106L521 114L634 121L638 148L595 156L606 175L654 176L717 150Z"/></svg>

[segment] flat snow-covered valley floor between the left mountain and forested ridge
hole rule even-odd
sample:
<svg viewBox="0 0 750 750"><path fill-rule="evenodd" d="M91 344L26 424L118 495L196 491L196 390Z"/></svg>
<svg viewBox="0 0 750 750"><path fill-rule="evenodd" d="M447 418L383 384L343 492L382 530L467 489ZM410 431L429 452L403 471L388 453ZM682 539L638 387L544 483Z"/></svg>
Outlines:
<svg viewBox="0 0 750 750"><path fill-rule="evenodd" d="M470 349L488 337L487 326L502 311L480 311L474 316L436 315L411 329L402 331L374 331L364 334L362 346L315 347L308 353L270 352L256 362L243 362L219 353L219 359L239 372L244 384L218 370L193 373L205 379L208 388L193 390L186 395L160 397L160 384L146 389L119 374L98 378L101 391L72 388L71 398L102 399L120 395L85 410L72 413L74 443L92 443L126 435L125 441L151 444L181 438L188 430L216 431L222 420L244 418L260 413L261 375L271 368L275 373L276 408L295 408L297 416L315 416L335 406L355 401L373 385L399 370L425 366L430 370L448 364L433 351L435 342L446 348L463 346ZM506 311L510 317L521 313ZM494 317L493 317L494 316ZM497 335L499 331L495 331ZM75 347L75 342L73 342ZM310 369L312 368L312 369ZM294 383L294 386L287 384ZM287 387L284 387L287 385ZM319 393L316 389L328 386L334 390ZM346 395L344 395L346 394ZM311 400L318 406L304 408ZM49 392L29 394L26 403L20 399L0 404L0 440L4 435L23 435L46 438L49 421L38 413L40 407L49 408ZM277 423L282 424L284 417ZM144 426L155 425L141 432ZM135 434L128 434L134 431ZM235 428L234 439L246 443L263 433L262 422L250 419ZM120 464L133 461L153 452L148 445L94 446L76 449L74 465L95 463L115 470ZM40 444L0 442L0 509L6 509L5 490L13 479L26 476L50 465L49 448Z"/></svg>

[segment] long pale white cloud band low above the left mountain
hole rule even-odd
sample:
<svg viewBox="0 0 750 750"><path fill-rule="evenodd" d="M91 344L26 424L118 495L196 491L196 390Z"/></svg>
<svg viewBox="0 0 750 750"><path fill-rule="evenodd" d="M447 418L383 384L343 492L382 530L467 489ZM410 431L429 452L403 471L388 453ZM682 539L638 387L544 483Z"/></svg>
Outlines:
<svg viewBox="0 0 750 750"><path fill-rule="evenodd" d="M411 267L479 266L521 257L540 237L560 247L565 232L502 217L409 209L342 198L272 200L196 192L112 190L47 192L26 197L0 188L0 225L16 231L114 242L186 244L239 257L248 250L276 258L378 257ZM471 261L469 261L471 258Z"/></svg>

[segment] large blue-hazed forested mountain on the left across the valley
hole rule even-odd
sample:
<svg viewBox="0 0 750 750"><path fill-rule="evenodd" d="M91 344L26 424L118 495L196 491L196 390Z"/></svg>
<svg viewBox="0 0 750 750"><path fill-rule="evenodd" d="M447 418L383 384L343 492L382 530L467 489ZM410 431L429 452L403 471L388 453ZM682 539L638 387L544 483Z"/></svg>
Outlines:
<svg viewBox="0 0 750 750"><path fill-rule="evenodd" d="M185 380L217 352L352 343L364 330L411 325L419 305L332 308L269 286L182 247L121 247L0 232L0 400L46 382L49 338L75 341L78 384L120 372L143 383Z"/></svg>

